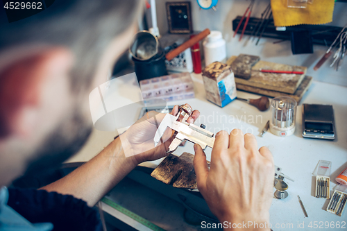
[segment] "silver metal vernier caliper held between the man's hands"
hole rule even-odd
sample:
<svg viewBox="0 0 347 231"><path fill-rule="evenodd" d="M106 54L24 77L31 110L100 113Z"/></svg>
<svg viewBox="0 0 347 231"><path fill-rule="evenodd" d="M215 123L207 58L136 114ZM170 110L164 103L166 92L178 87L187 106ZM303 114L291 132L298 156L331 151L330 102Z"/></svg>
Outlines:
<svg viewBox="0 0 347 231"><path fill-rule="evenodd" d="M180 111L176 116L172 114L166 114L154 136L154 146L157 146L162 139L162 135L167 128L171 128L176 131L176 137L169 146L167 153L172 153L185 139L194 144L200 144L201 148L205 150L207 146L213 148L214 134L208 130L205 130L205 126L201 124L200 127L193 123L187 123L187 119L192 114L192 108L187 105L181 105ZM178 121L180 115L183 116L182 121Z"/></svg>

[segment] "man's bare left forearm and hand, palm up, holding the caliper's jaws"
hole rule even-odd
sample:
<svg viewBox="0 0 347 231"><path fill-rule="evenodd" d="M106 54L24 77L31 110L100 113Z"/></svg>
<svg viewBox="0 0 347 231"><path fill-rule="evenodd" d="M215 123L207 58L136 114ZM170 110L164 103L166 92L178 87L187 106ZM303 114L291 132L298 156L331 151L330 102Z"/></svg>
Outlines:
<svg viewBox="0 0 347 231"><path fill-rule="evenodd" d="M177 113L178 105L174 107L171 114ZM192 117L187 119L187 122L193 123L199 114L200 112L195 110ZM149 112L148 117L145 114L142 119L130 126L119 138L105 147L99 155L96 155L92 160L64 178L41 189L73 195L76 198L85 200L88 205L94 206L137 164L146 160L156 160L166 155L171 140L174 138L172 137L172 130L167 129L164 133L167 137L163 137L166 142L158 144L155 148L153 140L155 131L164 116L165 114L157 112ZM130 151L135 151L137 155L126 157L125 148L132 148Z"/></svg>

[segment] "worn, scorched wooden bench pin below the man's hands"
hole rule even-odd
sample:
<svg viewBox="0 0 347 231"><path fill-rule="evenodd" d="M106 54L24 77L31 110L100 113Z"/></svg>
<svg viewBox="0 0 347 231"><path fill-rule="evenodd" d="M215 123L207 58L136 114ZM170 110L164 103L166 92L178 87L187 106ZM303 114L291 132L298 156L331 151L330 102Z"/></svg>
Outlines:
<svg viewBox="0 0 347 231"><path fill-rule="evenodd" d="M177 188L198 189L193 160L194 155L191 153L183 153L180 157L170 154L154 169L151 176Z"/></svg>

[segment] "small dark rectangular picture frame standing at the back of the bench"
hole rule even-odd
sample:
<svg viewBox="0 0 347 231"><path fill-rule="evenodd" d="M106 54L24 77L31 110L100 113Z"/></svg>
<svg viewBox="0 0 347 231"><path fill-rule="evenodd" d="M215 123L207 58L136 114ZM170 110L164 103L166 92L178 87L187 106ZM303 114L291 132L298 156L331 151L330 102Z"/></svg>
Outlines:
<svg viewBox="0 0 347 231"><path fill-rule="evenodd" d="M169 33L189 34L193 32L192 10L189 1L167 2Z"/></svg>

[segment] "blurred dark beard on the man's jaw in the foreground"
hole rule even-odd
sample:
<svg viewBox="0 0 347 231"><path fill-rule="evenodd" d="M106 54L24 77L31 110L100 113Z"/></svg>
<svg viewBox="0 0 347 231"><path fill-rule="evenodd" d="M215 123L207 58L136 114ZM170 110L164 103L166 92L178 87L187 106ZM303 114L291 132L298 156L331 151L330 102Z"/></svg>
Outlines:
<svg viewBox="0 0 347 231"><path fill-rule="evenodd" d="M39 176L58 169L62 162L82 148L91 132L91 122L75 110L74 114L65 118L56 130L44 139L42 147L28 162L23 177Z"/></svg>

